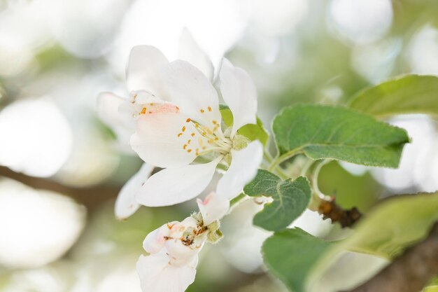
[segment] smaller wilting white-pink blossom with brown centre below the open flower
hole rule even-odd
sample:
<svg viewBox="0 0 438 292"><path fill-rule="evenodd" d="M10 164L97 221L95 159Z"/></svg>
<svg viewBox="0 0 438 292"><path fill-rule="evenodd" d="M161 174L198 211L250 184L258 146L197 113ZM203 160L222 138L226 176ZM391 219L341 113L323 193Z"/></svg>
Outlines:
<svg viewBox="0 0 438 292"><path fill-rule="evenodd" d="M212 223L229 209L228 200L214 193L199 204L202 218L173 221L146 236L143 248L150 255L140 256L137 262L143 292L183 292L195 281L198 253L219 227L218 223Z"/></svg>

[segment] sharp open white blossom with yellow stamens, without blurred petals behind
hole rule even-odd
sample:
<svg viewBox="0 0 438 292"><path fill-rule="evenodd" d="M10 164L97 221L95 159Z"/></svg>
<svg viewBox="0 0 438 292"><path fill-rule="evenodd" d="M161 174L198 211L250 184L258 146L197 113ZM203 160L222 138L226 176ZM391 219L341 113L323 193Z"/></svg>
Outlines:
<svg viewBox="0 0 438 292"><path fill-rule="evenodd" d="M175 107L141 115L137 121L132 148L145 162L165 168L146 181L137 200L150 207L190 200L206 188L219 164L228 169L218 183L218 195L239 195L263 155L260 141L248 144L236 134L243 125L256 123L253 81L242 69L222 62L220 92L234 118L232 128L222 132L218 92L202 71L177 60L157 72ZM201 160L192 163L197 158Z"/></svg>

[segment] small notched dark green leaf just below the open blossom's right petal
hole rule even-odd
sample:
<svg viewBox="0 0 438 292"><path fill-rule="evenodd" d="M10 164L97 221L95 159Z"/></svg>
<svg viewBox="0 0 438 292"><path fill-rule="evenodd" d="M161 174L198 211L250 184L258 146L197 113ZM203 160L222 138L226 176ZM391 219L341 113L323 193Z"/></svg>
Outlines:
<svg viewBox="0 0 438 292"><path fill-rule="evenodd" d="M278 176L259 169L255 179L243 189L246 195L272 197L273 201L254 216L254 225L276 231L288 227L306 209L311 197L309 181L304 176L282 181Z"/></svg>

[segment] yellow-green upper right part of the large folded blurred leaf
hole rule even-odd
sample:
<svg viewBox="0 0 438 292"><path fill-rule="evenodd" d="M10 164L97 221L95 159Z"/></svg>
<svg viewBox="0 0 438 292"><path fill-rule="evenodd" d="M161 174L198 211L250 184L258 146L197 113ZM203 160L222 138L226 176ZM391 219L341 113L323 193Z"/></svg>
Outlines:
<svg viewBox="0 0 438 292"><path fill-rule="evenodd" d="M438 193L399 195L381 202L343 245L350 251L393 259L423 239L438 221Z"/></svg>

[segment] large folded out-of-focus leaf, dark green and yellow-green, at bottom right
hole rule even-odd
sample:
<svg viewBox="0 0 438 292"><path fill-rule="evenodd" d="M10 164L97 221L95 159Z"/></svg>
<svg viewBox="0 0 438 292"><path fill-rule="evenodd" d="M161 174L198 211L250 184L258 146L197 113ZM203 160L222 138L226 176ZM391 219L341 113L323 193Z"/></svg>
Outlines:
<svg viewBox="0 0 438 292"><path fill-rule="evenodd" d="M342 258L351 255L346 251L362 253L362 260L369 260L372 256L374 260L393 260L409 246L427 237L431 226L438 221L437 210L438 193L399 195L381 202L365 214L354 232L341 242L324 242L296 229L276 232L262 248L264 261L291 291L317 292L321 291L321 286L325 287L325 292L348 291L360 284L351 281L352 278L365 281L382 267L383 262L374 261L372 268L362 267L359 262L356 267L362 274L358 278L354 262L348 261L348 257ZM339 263L348 268L333 272L333 265L338 264L336 269L339 269ZM435 288L434 284L430 284L429 291L435 292L432 288Z"/></svg>

